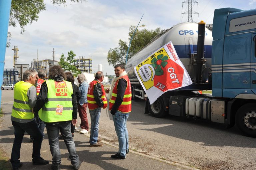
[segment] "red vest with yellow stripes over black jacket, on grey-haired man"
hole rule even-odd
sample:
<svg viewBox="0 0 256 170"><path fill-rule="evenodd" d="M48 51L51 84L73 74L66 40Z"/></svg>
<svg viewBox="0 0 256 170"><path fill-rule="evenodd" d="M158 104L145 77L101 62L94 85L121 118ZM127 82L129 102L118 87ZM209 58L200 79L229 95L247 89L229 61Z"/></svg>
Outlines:
<svg viewBox="0 0 256 170"><path fill-rule="evenodd" d="M108 102L107 102L106 92L104 90L104 86L100 82L94 80L94 81L92 81L89 84L88 93L87 93L88 108L90 110L94 110L94 109L99 107L99 105L96 103L96 101L94 99L94 95L93 95L93 89L94 89L94 86L97 83L99 83L101 85L101 92L102 92L101 99L103 101L103 108L106 108L108 106Z"/></svg>

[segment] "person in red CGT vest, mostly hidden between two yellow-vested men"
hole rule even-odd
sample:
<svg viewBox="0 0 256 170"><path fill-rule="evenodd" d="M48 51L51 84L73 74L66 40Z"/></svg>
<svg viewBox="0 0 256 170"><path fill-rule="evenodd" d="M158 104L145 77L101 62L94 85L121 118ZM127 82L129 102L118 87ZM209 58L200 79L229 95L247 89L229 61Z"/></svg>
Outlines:
<svg viewBox="0 0 256 170"><path fill-rule="evenodd" d="M45 72L42 71L42 70L39 70L39 71L38 71L38 77L39 77L39 79L37 80L37 83L36 83L36 95L39 94L40 89L41 89L41 85L45 82L45 80L44 80L45 77L46 77ZM35 119L36 119L36 121L37 121L37 123L38 123L38 126L39 126L40 131L41 131L42 134L43 134L43 140L44 140L44 128L45 128L45 123L44 123L44 121L40 120L38 114L35 115ZM34 141L34 139L33 139L33 137L30 135L30 142L33 142L33 141Z"/></svg>

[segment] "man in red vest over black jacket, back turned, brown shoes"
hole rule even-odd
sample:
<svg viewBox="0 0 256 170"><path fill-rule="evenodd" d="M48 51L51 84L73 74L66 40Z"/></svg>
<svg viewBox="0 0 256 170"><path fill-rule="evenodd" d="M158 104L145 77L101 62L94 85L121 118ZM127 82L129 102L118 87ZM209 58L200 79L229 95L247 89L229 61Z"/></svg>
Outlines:
<svg viewBox="0 0 256 170"><path fill-rule="evenodd" d="M98 139L100 112L102 107L106 108L108 105L104 86L101 84L103 80L103 73L98 71L94 81L89 84L87 93L88 108L91 116L90 146L96 147L103 146L103 144L99 142L101 139ZM109 90L107 90L107 92L108 91Z"/></svg>

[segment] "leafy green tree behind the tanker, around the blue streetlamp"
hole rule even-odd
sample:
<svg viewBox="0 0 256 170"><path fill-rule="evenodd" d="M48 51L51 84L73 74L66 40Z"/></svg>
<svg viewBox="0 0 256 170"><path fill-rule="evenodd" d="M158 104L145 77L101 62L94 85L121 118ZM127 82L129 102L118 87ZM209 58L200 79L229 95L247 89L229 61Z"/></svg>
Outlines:
<svg viewBox="0 0 256 170"><path fill-rule="evenodd" d="M130 43L130 40L132 38L132 35L135 29L136 29L135 26L133 25L130 26L128 43ZM142 49L144 46L150 43L150 40L152 40L160 32L162 32L161 28L156 28L155 30L147 30L147 29L138 30L137 29L130 45L128 60L140 49ZM127 44L127 42L119 39L118 47L108 50L108 55L107 55L108 64L113 67L119 63L125 64L128 45L129 44Z"/></svg>

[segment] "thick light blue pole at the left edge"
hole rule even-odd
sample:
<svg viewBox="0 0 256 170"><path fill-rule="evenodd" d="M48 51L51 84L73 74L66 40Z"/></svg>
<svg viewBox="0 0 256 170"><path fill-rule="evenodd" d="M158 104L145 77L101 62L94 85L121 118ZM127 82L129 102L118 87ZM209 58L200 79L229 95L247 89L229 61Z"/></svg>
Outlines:
<svg viewBox="0 0 256 170"><path fill-rule="evenodd" d="M9 25L9 16L11 11L11 0L0 0L0 85L3 84L4 60L6 41ZM0 89L0 107L1 107L2 88Z"/></svg>

